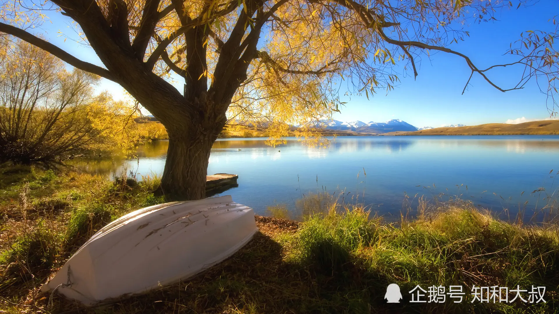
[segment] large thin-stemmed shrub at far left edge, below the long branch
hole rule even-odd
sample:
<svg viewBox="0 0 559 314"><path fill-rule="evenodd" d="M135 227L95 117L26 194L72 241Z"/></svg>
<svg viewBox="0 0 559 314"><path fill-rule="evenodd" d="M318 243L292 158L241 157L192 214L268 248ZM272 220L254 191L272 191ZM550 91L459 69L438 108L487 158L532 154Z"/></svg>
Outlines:
<svg viewBox="0 0 559 314"><path fill-rule="evenodd" d="M95 75L73 70L25 41L0 60L0 160L43 161L96 144L88 119ZM41 66L37 66L40 64ZM26 82L26 84L21 84Z"/></svg>

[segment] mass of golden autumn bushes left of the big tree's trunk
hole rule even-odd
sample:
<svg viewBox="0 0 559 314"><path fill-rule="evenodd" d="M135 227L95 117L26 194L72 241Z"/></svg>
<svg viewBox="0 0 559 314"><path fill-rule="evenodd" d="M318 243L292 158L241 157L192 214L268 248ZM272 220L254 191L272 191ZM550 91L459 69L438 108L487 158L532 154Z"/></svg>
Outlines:
<svg viewBox="0 0 559 314"><path fill-rule="evenodd" d="M64 159L88 151L131 151L162 130L138 125L134 106L94 94L99 78L69 71L24 41L5 43L0 60L0 160Z"/></svg>

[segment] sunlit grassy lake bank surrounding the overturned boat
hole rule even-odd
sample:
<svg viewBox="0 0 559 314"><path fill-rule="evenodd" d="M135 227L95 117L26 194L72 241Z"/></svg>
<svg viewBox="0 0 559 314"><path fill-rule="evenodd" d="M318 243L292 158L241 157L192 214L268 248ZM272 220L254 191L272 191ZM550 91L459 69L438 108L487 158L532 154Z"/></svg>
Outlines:
<svg viewBox="0 0 559 314"><path fill-rule="evenodd" d="M79 309L39 287L96 230L159 203L157 179L108 182L26 166L0 170L0 311L75 313L552 313L558 312L557 226L520 226L449 205L386 223L360 206L306 198L304 218L257 217L254 240L191 280ZM276 216L285 209L271 208ZM404 301L387 304L397 283ZM409 303L417 284L461 285L461 303ZM546 303L471 301L472 285L547 287ZM511 294L513 297L513 294ZM523 297L527 299L527 294ZM49 305L49 299L52 303Z"/></svg>

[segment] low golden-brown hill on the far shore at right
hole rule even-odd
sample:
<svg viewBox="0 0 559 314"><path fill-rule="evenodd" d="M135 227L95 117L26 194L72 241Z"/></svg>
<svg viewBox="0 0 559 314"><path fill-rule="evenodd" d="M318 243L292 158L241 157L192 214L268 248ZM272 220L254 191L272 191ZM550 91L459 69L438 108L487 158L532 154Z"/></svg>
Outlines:
<svg viewBox="0 0 559 314"><path fill-rule="evenodd" d="M547 135L559 134L559 120L518 124L487 123L462 127L437 127L415 132L389 132L383 135Z"/></svg>

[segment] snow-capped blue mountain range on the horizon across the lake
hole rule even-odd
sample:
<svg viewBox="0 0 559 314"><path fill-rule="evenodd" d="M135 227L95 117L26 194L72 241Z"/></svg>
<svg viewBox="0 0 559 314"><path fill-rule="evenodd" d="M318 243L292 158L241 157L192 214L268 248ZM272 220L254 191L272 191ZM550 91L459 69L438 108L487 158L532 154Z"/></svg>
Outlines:
<svg viewBox="0 0 559 314"><path fill-rule="evenodd" d="M418 131L418 130L429 130L434 129L432 126L415 127L410 125L410 123L402 121L400 119L392 119L386 122L374 122L370 121L365 123L363 121L350 121L342 122L334 119L324 119L319 122L314 122L315 126L322 126L326 130L337 130L337 131L354 131L354 132L372 132L372 133L387 133L395 131ZM465 126L463 124L448 125L446 127L461 127Z"/></svg>

